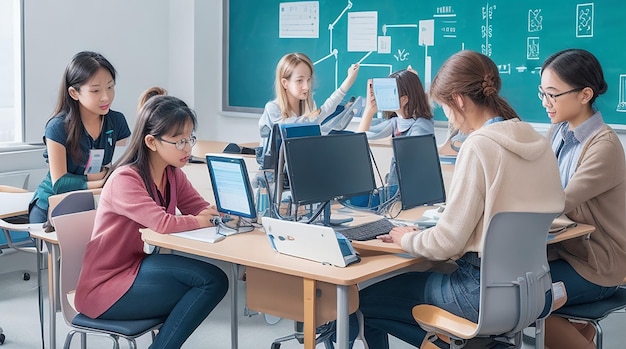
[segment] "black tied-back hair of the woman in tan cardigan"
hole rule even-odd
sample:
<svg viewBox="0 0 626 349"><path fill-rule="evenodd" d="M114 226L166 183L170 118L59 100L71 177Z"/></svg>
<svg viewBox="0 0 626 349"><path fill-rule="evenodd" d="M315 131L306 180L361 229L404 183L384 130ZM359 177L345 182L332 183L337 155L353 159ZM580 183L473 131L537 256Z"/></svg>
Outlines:
<svg viewBox="0 0 626 349"><path fill-rule="evenodd" d="M551 69L574 88L591 88L593 97L589 100L589 105L593 105L596 98L608 89L600 62L591 52L583 49L570 48L553 54L543 62L542 75L545 69Z"/></svg>

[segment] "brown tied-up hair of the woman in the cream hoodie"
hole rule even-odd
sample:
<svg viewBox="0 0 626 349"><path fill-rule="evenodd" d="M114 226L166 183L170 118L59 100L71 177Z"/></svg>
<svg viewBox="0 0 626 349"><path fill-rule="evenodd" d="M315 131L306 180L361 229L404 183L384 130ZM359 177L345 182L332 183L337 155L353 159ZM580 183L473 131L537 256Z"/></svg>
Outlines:
<svg viewBox="0 0 626 349"><path fill-rule="evenodd" d="M448 58L430 85L431 97L450 106L460 115L463 111L455 95L469 97L476 105L501 116L504 120L520 119L511 105L499 93L502 80L491 58L475 51L464 50Z"/></svg>

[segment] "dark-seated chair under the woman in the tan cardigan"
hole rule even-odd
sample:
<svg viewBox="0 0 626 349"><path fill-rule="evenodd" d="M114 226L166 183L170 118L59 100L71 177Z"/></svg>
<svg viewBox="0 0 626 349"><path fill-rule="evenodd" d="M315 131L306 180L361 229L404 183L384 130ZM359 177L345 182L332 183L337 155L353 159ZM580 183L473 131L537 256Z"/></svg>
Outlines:
<svg viewBox="0 0 626 349"><path fill-rule="evenodd" d="M626 279L624 280L626 284ZM596 348L602 349L602 327L600 321L611 313L626 309L626 288L620 286L609 298L601 301L568 305L552 312L553 315L566 318L568 320L585 321L591 324L596 330Z"/></svg>

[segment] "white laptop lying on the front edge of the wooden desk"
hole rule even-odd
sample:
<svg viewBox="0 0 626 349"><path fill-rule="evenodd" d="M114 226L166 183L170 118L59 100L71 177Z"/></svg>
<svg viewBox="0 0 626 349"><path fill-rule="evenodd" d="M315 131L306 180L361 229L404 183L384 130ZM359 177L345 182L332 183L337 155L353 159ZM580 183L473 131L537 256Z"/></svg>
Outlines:
<svg viewBox="0 0 626 349"><path fill-rule="evenodd" d="M337 267L360 260L350 241L331 227L269 217L262 222L270 245L280 253Z"/></svg>

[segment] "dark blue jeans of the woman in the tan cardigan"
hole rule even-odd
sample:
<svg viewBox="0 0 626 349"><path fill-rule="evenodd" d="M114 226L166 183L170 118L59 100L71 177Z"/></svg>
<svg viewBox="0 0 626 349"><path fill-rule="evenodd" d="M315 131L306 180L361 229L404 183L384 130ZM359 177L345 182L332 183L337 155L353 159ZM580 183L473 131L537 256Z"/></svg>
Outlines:
<svg viewBox="0 0 626 349"><path fill-rule="evenodd" d="M551 261L552 282L563 281L567 290L565 305L593 303L611 297L617 286L603 287L587 281L569 263L562 259Z"/></svg>

